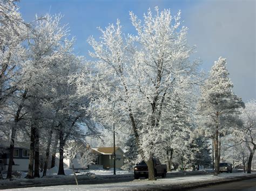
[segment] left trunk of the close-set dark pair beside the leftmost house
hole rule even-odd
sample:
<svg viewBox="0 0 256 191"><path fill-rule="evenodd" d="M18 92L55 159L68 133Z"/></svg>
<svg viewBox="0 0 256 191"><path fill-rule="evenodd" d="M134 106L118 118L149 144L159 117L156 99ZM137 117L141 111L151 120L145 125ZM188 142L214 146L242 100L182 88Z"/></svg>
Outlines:
<svg viewBox="0 0 256 191"><path fill-rule="evenodd" d="M36 128L31 126L30 130L30 150L29 150L29 171L26 175L26 178L33 179L33 162L35 158L35 134L36 134Z"/></svg>

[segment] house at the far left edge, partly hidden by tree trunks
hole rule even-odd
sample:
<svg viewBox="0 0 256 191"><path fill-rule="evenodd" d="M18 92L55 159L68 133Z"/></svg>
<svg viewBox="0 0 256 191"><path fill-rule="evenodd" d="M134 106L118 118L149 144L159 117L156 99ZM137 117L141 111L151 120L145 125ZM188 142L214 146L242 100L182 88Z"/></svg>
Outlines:
<svg viewBox="0 0 256 191"><path fill-rule="evenodd" d="M2 140L0 143L0 164L3 171L7 171L10 158L10 142ZM12 163L12 171L28 171L29 166L29 143L15 142L14 160Z"/></svg>

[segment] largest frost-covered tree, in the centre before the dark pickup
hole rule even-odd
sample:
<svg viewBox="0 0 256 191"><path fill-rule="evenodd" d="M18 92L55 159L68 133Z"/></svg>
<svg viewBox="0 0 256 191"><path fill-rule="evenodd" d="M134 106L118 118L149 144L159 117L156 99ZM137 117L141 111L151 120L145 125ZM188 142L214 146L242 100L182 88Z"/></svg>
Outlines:
<svg viewBox="0 0 256 191"><path fill-rule="evenodd" d="M194 48L187 44L180 12L173 17L170 10L156 8L156 15L149 10L144 22L130 15L136 35L125 37L118 20L116 26L100 29L99 41L89 38L96 74L78 80L78 93L92 90L91 112L100 123L130 127L153 180L153 158L163 151L160 143L172 132L168 130L173 128L172 104L193 86L198 62L189 60ZM88 77L90 83L85 82ZM182 103L179 107L184 107Z"/></svg>

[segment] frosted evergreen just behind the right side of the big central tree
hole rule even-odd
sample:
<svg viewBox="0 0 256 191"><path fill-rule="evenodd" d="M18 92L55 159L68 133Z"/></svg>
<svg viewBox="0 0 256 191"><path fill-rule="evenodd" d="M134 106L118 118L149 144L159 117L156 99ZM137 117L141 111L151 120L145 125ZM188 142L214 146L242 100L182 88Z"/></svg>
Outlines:
<svg viewBox="0 0 256 191"><path fill-rule="evenodd" d="M191 86L187 86L186 91L182 93L179 89L174 89L173 97L176 98L172 100L170 107L171 128L164 130L169 135L166 135L165 140L160 143L164 147L164 152L160 157L164 157L168 171L172 168L174 152L183 155L184 160L190 160L192 154L190 145L194 133L194 107L197 100ZM181 105L183 107L180 107Z"/></svg>

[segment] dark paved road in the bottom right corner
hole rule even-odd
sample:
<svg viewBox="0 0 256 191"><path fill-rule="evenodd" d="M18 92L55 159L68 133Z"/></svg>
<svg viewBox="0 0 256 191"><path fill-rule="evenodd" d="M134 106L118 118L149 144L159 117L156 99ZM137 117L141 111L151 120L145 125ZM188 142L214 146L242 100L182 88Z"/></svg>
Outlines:
<svg viewBox="0 0 256 191"><path fill-rule="evenodd" d="M230 182L230 183L223 183L221 185L214 185L202 188L191 189L193 190L206 190L206 191L213 191L213 190L246 190L246 191L255 191L256 190L256 178L249 179L249 180L242 180L237 182Z"/></svg>

